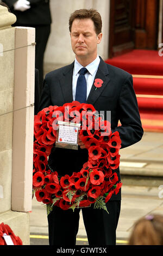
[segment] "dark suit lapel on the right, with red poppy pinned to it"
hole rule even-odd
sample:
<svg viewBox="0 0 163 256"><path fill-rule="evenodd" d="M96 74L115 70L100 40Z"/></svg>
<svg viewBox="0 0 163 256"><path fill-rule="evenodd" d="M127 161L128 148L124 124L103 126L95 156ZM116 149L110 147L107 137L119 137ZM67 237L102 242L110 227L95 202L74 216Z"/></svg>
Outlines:
<svg viewBox="0 0 163 256"><path fill-rule="evenodd" d="M92 84L91 87L91 91L89 96L87 97L87 101L86 103L88 104L94 104L96 102L96 100L99 98L99 96L101 95L101 93L103 92L105 86L108 84L108 82L110 81L109 77L108 77L108 69L106 68L106 63L102 60L99 63L99 67L95 76L95 79L99 78L103 80L103 84L102 87L99 87L96 89L94 82Z"/></svg>

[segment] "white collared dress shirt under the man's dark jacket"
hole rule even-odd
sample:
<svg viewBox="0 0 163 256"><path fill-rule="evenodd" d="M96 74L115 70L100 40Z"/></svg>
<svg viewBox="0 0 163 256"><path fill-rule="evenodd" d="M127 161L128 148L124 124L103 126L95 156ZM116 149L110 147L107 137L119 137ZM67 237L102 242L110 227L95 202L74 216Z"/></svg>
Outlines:
<svg viewBox="0 0 163 256"><path fill-rule="evenodd" d="M89 96L89 93L91 91L91 87L93 84L93 81L95 79L95 75L99 66L100 58L97 55L97 58L95 61L91 62L89 65L87 65L85 68L88 70L88 72L85 74L85 79L86 79L86 86L87 86L87 91L86 91L86 99ZM73 75L72 75L72 94L73 94L73 100L76 99L76 87L77 87L77 80L79 76L79 71L80 69L83 68L83 66L77 61L75 58L74 61L74 68L73 68Z"/></svg>

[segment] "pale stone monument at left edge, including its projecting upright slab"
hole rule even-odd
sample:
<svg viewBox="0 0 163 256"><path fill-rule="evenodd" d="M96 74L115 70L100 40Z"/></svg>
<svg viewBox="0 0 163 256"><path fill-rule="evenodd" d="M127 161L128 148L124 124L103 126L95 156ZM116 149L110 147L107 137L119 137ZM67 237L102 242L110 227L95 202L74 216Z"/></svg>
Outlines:
<svg viewBox="0 0 163 256"><path fill-rule="evenodd" d="M0 5L0 223L29 245L35 29L12 27L15 21Z"/></svg>

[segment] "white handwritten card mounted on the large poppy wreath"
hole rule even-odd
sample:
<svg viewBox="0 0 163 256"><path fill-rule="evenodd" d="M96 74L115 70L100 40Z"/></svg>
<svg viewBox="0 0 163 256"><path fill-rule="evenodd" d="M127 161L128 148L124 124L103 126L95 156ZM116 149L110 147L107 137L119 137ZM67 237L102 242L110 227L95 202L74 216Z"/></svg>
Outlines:
<svg viewBox="0 0 163 256"><path fill-rule="evenodd" d="M59 126L58 142L77 144L78 142L78 127Z"/></svg>

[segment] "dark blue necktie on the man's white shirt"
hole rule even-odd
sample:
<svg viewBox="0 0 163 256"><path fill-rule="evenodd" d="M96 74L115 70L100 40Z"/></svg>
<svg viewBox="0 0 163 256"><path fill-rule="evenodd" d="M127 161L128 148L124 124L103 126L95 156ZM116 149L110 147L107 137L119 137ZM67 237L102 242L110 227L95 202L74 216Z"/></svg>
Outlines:
<svg viewBox="0 0 163 256"><path fill-rule="evenodd" d="M80 103L86 103L86 79L85 74L87 72L86 68L82 68L79 71L79 77L77 80L76 88L76 100Z"/></svg>

